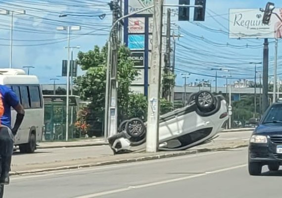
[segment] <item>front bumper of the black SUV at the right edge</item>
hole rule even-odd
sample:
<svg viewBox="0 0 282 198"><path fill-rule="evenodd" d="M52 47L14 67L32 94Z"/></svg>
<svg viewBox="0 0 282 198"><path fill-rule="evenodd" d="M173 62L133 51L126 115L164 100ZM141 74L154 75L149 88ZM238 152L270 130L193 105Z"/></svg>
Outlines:
<svg viewBox="0 0 282 198"><path fill-rule="evenodd" d="M277 153L276 144L252 144L248 149L249 162L261 162L268 164L269 162L279 162L282 164L282 153Z"/></svg>

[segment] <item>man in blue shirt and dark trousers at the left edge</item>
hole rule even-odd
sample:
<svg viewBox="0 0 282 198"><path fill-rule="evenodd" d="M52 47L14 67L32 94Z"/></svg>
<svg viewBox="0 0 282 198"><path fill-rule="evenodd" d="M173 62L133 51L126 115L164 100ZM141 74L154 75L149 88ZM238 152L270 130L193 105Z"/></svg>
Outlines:
<svg viewBox="0 0 282 198"><path fill-rule="evenodd" d="M9 171L13 154L14 136L24 118L24 108L13 90L4 85L0 85L0 96L4 108L0 123L0 156L1 156L1 176L0 184L9 184ZM16 112L14 127L11 127L11 107Z"/></svg>

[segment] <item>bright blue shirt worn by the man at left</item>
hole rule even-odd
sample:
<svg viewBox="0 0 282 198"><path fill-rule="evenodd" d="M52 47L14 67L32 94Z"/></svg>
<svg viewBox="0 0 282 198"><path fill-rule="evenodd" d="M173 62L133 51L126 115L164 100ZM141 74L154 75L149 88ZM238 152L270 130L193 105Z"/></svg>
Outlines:
<svg viewBox="0 0 282 198"><path fill-rule="evenodd" d="M19 99L11 88L4 85L0 85L0 93L4 106L1 124L11 128L11 107L15 108L19 104Z"/></svg>

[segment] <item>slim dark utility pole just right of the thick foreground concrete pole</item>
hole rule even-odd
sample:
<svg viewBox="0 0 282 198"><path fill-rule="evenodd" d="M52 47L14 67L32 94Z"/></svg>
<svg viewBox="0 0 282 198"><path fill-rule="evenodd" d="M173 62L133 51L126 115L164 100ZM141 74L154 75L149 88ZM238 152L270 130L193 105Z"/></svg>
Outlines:
<svg viewBox="0 0 282 198"><path fill-rule="evenodd" d="M168 8L167 9L167 25L166 25L166 53L165 53L165 74L170 73L170 51L171 51L171 45L170 45L170 32L171 32L171 28L170 28L170 17L171 16L171 9ZM166 96L166 93L168 91L168 96ZM163 98L167 97L167 99L169 98L169 100L171 101L171 88L169 88L169 90L163 90Z"/></svg>

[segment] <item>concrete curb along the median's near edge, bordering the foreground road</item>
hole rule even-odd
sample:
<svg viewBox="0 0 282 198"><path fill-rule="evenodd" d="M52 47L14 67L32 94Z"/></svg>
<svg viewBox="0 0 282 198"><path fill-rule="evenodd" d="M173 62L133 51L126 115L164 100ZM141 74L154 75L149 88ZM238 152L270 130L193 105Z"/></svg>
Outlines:
<svg viewBox="0 0 282 198"><path fill-rule="evenodd" d="M62 167L56 167L56 168L45 168L45 169L36 169L36 170L29 170L29 171L10 172L10 175L36 174L36 173L51 172L51 171L70 170L70 169L89 168L89 167L105 166L105 165L112 165L112 164L147 161L147 160L153 160L153 159L161 159L161 158L196 154L196 153L208 152L208 151L221 151L221 150L227 150L227 149L244 148L244 147L247 147L247 146L248 146L248 144L241 144L241 145L237 145L237 146L233 146L233 147L202 148L202 149L196 149L196 150L187 150L187 151L184 151L184 152L164 153L164 154L157 154L157 155L130 158L130 159L97 162L97 163L91 163L91 164L80 164L80 165L62 166Z"/></svg>

